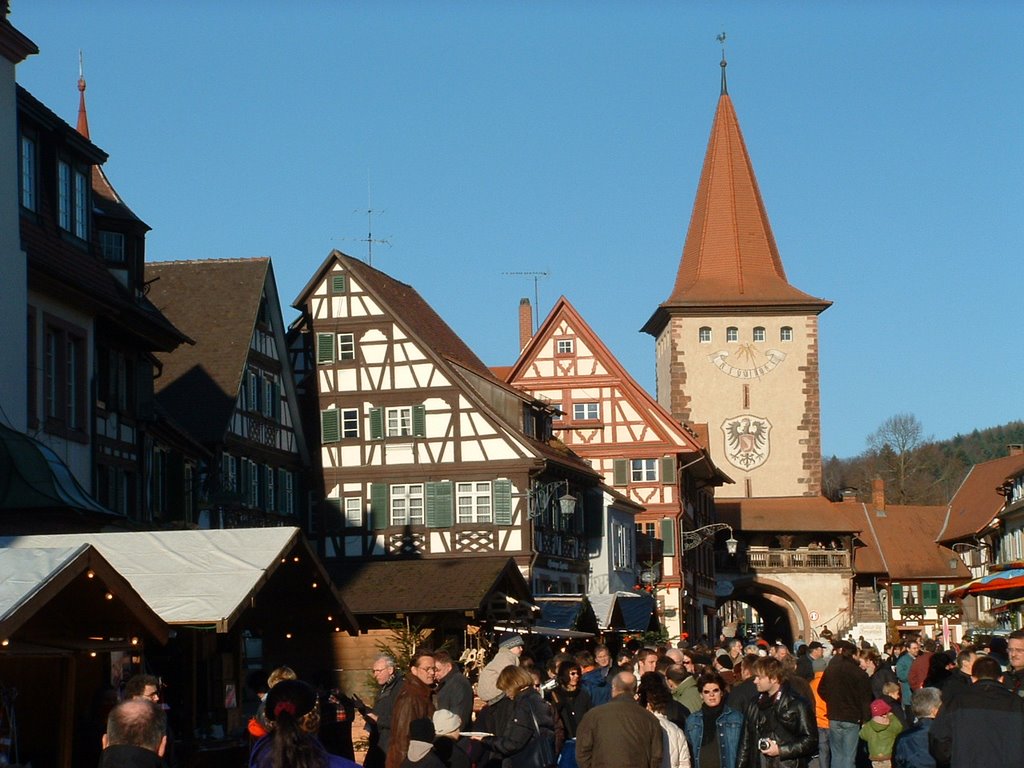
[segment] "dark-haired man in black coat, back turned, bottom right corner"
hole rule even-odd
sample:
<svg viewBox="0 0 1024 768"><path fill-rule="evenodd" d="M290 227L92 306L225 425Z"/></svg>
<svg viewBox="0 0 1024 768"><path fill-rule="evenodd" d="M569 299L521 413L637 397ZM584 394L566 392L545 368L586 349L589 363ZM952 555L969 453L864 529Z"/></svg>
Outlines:
<svg viewBox="0 0 1024 768"><path fill-rule="evenodd" d="M1024 765L1024 698L1002 686L991 656L980 656L971 675L974 684L939 711L928 735L936 765Z"/></svg>

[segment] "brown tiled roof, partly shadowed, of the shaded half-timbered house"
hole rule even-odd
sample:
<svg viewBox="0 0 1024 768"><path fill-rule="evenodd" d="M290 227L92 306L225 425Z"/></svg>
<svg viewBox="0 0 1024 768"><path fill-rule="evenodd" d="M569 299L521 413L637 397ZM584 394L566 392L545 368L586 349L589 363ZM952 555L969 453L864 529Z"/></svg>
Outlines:
<svg viewBox="0 0 1024 768"><path fill-rule="evenodd" d="M150 299L196 340L160 355L157 396L205 443L219 442L227 429L269 267L266 257L145 265Z"/></svg>

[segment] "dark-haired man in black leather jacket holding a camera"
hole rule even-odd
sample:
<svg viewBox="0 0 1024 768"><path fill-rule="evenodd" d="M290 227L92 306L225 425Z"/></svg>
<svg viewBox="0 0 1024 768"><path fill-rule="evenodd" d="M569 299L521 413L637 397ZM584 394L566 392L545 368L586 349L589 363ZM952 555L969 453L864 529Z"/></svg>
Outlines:
<svg viewBox="0 0 1024 768"><path fill-rule="evenodd" d="M754 663L758 697L746 708L739 768L760 768L762 756L778 768L804 768L818 749L814 705L796 693L777 658Z"/></svg>

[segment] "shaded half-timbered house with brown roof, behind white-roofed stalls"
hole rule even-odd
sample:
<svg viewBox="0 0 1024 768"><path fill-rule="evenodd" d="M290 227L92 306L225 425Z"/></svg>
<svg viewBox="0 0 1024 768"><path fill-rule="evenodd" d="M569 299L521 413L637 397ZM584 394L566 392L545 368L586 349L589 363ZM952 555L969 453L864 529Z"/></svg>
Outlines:
<svg viewBox="0 0 1024 768"><path fill-rule="evenodd" d="M159 406L208 452L191 470L188 521L304 523L308 453L270 260L163 261L145 274L153 301L196 340L160 357L157 381Z"/></svg>

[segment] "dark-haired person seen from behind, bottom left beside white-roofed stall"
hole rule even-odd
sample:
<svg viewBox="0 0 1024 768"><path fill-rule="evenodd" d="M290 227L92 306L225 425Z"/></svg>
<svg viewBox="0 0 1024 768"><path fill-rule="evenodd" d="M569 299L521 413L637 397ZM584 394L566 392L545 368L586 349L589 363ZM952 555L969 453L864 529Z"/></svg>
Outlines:
<svg viewBox="0 0 1024 768"><path fill-rule="evenodd" d="M270 688L265 703L269 732L253 744L250 768L355 768L317 740L319 702L309 684L283 680Z"/></svg>

